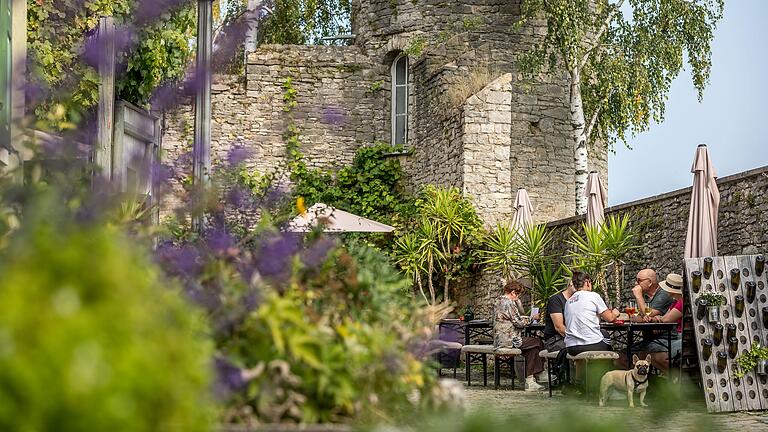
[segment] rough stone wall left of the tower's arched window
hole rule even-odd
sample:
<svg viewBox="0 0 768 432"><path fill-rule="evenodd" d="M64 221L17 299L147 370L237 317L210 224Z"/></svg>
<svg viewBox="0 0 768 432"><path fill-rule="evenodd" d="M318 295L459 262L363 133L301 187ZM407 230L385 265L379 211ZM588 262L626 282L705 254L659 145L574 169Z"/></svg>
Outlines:
<svg viewBox="0 0 768 432"><path fill-rule="evenodd" d="M251 151L247 165L274 170L284 160L283 135L290 118L298 127L308 165L348 164L361 145L388 141L389 68L373 64L357 47L267 45L250 54L246 79L219 75L212 86L212 163L226 160L235 146ZM287 113L286 79L297 106ZM193 103L165 114L164 162L191 172ZM215 169L215 168L214 168ZM180 190L182 179L175 179ZM173 207L173 203L169 203ZM169 207L166 206L166 207Z"/></svg>

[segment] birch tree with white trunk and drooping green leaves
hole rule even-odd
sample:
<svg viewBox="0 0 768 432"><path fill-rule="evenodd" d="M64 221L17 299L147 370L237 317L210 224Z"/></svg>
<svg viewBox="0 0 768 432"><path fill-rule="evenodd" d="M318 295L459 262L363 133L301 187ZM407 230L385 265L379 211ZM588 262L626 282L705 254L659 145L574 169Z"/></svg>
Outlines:
<svg viewBox="0 0 768 432"><path fill-rule="evenodd" d="M626 143L664 119L675 77L688 63L701 100L723 0L523 0L520 26L547 34L520 58L525 75L567 72L576 214L586 212L587 149Z"/></svg>

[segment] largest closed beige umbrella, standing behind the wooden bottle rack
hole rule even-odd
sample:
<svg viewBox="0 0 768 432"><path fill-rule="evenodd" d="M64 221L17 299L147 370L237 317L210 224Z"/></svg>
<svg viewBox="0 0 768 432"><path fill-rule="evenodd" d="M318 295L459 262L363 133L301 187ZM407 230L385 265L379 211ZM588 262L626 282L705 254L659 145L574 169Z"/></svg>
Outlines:
<svg viewBox="0 0 768 432"><path fill-rule="evenodd" d="M688 233L685 236L685 257L716 256L720 191L717 190L717 173L705 144L699 144L696 149L691 172L693 190L691 210L688 213Z"/></svg>

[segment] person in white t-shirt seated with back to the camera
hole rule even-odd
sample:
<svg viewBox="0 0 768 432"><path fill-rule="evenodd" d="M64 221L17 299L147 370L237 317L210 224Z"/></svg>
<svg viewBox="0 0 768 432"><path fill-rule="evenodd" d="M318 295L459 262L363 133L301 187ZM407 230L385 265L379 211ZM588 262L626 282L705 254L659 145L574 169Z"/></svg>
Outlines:
<svg viewBox="0 0 768 432"><path fill-rule="evenodd" d="M565 348L570 355L585 351L611 351L600 331L600 318L613 322L616 309L609 310L599 294L592 292L592 280L582 271L571 278L576 292L565 303Z"/></svg>

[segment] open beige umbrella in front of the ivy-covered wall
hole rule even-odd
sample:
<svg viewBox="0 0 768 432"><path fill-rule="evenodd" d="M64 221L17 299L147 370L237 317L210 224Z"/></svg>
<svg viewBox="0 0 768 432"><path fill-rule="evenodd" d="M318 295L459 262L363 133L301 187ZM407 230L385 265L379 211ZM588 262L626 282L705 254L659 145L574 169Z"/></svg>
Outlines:
<svg viewBox="0 0 768 432"><path fill-rule="evenodd" d="M288 222L288 232L309 232L318 223L324 232L391 232L395 228L344 210L317 203Z"/></svg>

